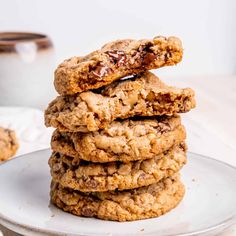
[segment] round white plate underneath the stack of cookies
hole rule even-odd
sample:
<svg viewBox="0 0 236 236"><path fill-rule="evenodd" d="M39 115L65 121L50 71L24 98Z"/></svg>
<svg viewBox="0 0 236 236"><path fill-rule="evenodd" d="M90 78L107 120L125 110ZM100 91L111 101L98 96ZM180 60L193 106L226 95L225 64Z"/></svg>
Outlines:
<svg viewBox="0 0 236 236"><path fill-rule="evenodd" d="M159 218L111 222L81 218L49 203L50 151L31 153L0 165L0 223L24 235L215 235L236 219L236 170L188 154L183 168L186 195Z"/></svg>

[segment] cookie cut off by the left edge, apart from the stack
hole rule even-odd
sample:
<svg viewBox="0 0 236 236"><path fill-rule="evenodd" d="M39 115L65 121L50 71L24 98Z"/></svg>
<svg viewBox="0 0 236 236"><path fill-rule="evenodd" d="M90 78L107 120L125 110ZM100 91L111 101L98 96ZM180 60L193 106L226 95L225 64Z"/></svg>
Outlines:
<svg viewBox="0 0 236 236"><path fill-rule="evenodd" d="M6 161L16 154L19 145L15 132L0 127L0 162Z"/></svg>

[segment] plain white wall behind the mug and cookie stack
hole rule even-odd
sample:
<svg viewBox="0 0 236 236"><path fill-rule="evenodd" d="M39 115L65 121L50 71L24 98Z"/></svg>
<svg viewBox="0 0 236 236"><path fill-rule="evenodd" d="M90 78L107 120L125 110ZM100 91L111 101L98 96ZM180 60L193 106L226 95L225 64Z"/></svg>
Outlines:
<svg viewBox="0 0 236 236"><path fill-rule="evenodd" d="M168 75L236 73L235 0L0 0L0 31L45 32L60 61L117 38L179 36L183 63Z"/></svg>

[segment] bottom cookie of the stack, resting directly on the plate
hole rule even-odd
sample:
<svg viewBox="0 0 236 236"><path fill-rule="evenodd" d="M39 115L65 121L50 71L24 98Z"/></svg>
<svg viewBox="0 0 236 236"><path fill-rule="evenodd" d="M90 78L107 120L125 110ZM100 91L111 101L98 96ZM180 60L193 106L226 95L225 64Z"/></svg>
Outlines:
<svg viewBox="0 0 236 236"><path fill-rule="evenodd" d="M52 182L51 201L63 211L104 220L133 221L158 217L175 208L185 190L178 175L133 190L82 193Z"/></svg>

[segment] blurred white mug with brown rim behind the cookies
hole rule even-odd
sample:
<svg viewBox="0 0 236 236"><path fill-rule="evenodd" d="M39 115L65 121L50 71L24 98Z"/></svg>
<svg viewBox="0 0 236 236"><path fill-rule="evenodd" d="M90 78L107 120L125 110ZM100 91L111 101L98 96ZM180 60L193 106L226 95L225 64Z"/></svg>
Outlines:
<svg viewBox="0 0 236 236"><path fill-rule="evenodd" d="M55 96L51 39L31 32L0 32L0 106L45 108Z"/></svg>

